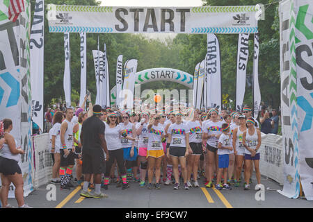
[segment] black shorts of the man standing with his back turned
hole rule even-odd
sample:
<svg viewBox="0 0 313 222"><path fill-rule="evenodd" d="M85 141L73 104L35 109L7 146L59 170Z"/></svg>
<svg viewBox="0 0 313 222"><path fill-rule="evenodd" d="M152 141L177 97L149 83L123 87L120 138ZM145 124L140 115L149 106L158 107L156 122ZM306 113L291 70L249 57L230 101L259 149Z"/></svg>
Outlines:
<svg viewBox="0 0 313 222"><path fill-rule="evenodd" d="M83 149L83 174L105 173L105 160L102 148Z"/></svg>

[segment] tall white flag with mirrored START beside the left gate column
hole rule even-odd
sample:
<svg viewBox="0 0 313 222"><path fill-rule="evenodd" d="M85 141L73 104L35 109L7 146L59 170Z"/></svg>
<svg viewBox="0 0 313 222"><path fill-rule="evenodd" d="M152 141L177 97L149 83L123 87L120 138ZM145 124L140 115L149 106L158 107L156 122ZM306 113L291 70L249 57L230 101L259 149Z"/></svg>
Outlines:
<svg viewBox="0 0 313 222"><path fill-rule="evenodd" d="M43 129L44 124L44 19L45 0L37 0L31 26L31 112L33 121Z"/></svg>

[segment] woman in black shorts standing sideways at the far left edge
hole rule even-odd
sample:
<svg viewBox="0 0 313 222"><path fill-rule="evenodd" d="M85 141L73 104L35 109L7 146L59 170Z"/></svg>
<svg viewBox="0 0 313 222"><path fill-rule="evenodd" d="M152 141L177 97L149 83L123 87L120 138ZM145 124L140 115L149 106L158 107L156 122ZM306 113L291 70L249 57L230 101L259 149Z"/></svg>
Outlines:
<svg viewBox="0 0 313 222"><path fill-rule="evenodd" d="M0 137L5 139L5 143L0 149L0 176L2 185L0 189L0 199L2 206L4 208L12 208L12 206L8 204L8 192L11 182L13 182L15 186L15 198L19 208L31 208L24 203L24 180L22 170L18 164L21 154L24 154L25 151L22 150L21 146L16 146L16 139L13 135L10 135L10 132L13 130L12 120L3 119L0 125L3 126L3 135L0 135Z"/></svg>

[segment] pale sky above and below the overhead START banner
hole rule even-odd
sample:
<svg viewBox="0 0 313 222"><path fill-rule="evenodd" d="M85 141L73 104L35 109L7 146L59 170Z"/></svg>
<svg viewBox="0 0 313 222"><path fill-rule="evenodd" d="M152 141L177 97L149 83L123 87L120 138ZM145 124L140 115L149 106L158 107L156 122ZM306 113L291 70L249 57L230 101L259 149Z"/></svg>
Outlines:
<svg viewBox="0 0 313 222"><path fill-rule="evenodd" d="M202 6L201 0L100 0L101 6L134 6L134 7L195 7ZM164 41L166 37L174 38L174 33L143 34L150 38L159 38Z"/></svg>

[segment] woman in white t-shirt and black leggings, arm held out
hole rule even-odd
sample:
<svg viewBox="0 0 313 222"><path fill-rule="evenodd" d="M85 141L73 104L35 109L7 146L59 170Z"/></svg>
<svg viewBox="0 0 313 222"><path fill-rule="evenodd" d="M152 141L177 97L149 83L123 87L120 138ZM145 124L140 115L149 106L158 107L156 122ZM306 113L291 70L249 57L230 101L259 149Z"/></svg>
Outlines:
<svg viewBox="0 0 313 222"><path fill-rule="evenodd" d="M135 139L133 137L129 137L125 130L123 130L123 128L118 124L118 115L114 112L108 115L104 124L106 126L104 131L106 146L109 150L109 160L106 160L106 172L104 173L104 189L108 189L109 176L114 160L116 160L118 169L120 169L120 175L122 177L122 189L126 189L128 185L126 169L124 166L124 153L120 138L122 136L132 141L135 141Z"/></svg>

